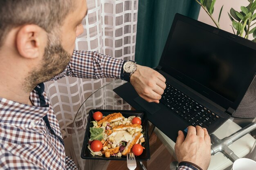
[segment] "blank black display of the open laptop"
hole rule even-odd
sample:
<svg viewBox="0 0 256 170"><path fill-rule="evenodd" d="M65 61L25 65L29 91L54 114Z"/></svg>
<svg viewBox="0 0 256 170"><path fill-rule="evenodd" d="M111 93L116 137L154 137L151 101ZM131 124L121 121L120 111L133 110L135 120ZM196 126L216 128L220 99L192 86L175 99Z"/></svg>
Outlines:
<svg viewBox="0 0 256 170"><path fill-rule="evenodd" d="M255 66L256 51L177 20L163 61L165 67L234 102Z"/></svg>

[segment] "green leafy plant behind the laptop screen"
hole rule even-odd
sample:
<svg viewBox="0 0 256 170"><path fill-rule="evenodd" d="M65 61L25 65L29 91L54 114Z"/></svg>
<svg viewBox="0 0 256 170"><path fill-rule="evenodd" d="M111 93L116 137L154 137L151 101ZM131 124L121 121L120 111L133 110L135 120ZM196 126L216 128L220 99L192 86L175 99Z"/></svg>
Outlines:
<svg viewBox="0 0 256 170"><path fill-rule="evenodd" d="M212 14L214 11L214 5L216 0L195 0L200 6L206 11L206 13L210 16L210 18L213 20L214 24L220 29L220 16L222 13L223 5L219 12L218 22L213 18ZM256 42L256 26L252 28L256 24L256 22L252 23L254 20L256 20L256 13L254 11L256 10L256 0L248 0L249 5L247 7L241 6L241 11L236 11L233 8L230 9L230 13L228 13L229 18L232 22L232 29L234 31L234 34L239 35L244 38L249 38L249 34L253 34L253 40ZM235 30L236 33L235 33ZM245 35L244 35L245 33Z"/></svg>

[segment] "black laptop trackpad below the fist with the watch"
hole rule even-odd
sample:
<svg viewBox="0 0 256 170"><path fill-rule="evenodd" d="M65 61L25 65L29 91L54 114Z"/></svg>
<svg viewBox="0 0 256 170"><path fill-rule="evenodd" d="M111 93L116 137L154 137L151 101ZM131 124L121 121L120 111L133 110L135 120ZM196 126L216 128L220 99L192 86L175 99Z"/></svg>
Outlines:
<svg viewBox="0 0 256 170"><path fill-rule="evenodd" d="M154 113L156 113L158 110L161 109L161 107L157 106L156 103L153 103L153 102L149 103L146 100L142 99L141 97L136 97L133 100L135 102L137 102L137 104L139 104L142 108L144 108L151 115L153 115Z"/></svg>

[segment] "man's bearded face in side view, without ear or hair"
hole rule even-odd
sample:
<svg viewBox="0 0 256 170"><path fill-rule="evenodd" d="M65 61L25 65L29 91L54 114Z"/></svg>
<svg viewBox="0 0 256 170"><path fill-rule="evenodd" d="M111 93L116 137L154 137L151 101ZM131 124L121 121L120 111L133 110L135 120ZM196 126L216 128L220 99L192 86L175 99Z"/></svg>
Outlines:
<svg viewBox="0 0 256 170"><path fill-rule="evenodd" d="M63 25L47 34L47 46L40 68L37 69L36 66L35 71L31 72L26 79L28 91L61 73L70 62L76 37L83 33L81 22L87 14L86 0L75 1L75 10L67 15Z"/></svg>

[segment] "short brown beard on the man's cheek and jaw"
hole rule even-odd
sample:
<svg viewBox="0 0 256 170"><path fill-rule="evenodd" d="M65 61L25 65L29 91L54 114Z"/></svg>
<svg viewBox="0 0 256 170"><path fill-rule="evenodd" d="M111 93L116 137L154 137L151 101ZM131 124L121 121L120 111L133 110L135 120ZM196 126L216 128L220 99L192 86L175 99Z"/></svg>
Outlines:
<svg viewBox="0 0 256 170"><path fill-rule="evenodd" d="M42 64L36 66L25 79L27 92L31 92L36 85L52 79L62 73L70 62L71 55L63 49L56 33L48 33L48 42L45 47Z"/></svg>

